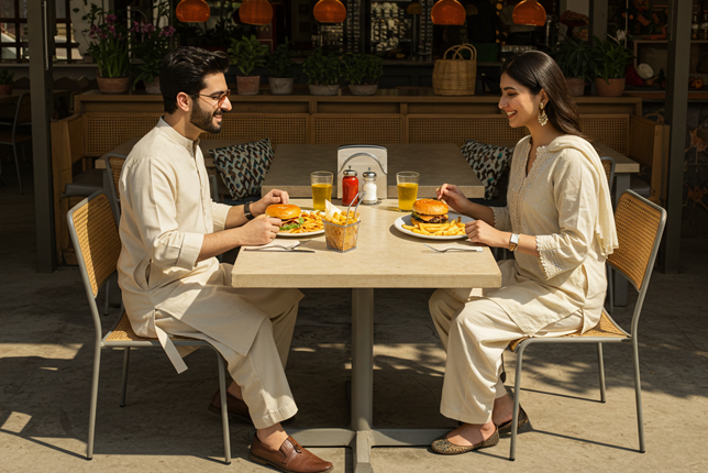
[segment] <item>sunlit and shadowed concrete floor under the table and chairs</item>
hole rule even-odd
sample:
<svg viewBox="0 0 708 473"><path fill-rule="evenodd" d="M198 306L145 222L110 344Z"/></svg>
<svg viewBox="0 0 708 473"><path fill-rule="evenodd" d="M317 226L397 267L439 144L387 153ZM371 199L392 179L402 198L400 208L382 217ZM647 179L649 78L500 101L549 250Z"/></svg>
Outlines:
<svg viewBox="0 0 708 473"><path fill-rule="evenodd" d="M93 332L77 267L36 273L29 164L25 195L12 163L0 187L0 472L267 472L247 458L248 430L232 422L233 463L221 463L220 419L207 411L217 388L208 350L177 375L161 352L132 356L129 405L119 407L122 353L104 352L96 449L85 459ZM637 452L630 349L606 345L608 402L599 403L594 346L527 352L521 403L531 424L519 436L458 457L427 448L377 448L379 473L686 472L708 470L708 251L684 240L682 274L654 273L640 329L646 453ZM444 353L428 315L431 290L378 290L375 326L375 426L450 427L439 414ZM298 427L346 426L350 359L346 290L306 290L288 363ZM118 309L106 318L109 328ZM629 321L631 311L616 318ZM507 371L513 355L506 356ZM508 383L509 384L509 383ZM351 472L351 451L312 449Z"/></svg>

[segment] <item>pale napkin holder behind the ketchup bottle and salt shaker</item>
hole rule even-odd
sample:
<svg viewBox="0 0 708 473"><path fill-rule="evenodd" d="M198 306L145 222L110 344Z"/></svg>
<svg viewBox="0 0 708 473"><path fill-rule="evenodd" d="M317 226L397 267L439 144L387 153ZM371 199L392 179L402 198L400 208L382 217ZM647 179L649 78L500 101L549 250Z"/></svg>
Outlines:
<svg viewBox="0 0 708 473"><path fill-rule="evenodd" d="M384 146L373 144L349 144L340 146L336 152L336 198L342 198L342 178L344 169L356 170L358 191L364 188L363 174L370 167L376 173L376 197L388 197L388 153Z"/></svg>

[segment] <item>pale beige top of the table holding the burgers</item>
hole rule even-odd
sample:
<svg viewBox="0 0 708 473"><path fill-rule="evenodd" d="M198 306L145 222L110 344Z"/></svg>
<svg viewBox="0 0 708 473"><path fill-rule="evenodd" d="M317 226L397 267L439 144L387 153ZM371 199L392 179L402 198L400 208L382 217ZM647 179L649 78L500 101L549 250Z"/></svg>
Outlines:
<svg viewBox="0 0 708 473"><path fill-rule="evenodd" d="M292 199L303 210L310 199ZM338 204L338 201L334 201ZM327 250L324 234L302 246L314 253L239 252L233 267L234 287L328 287L328 288L438 288L499 287L501 274L489 249L482 252L435 253L423 246L469 245L468 240L434 241L399 232L394 222L405 216L397 200L377 206L359 206L356 249L347 253Z"/></svg>

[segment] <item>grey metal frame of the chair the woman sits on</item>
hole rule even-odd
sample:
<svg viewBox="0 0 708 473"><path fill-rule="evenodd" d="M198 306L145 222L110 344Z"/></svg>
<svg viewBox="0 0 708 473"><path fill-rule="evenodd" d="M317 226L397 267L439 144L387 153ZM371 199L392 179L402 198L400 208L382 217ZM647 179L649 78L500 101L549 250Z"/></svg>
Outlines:
<svg viewBox="0 0 708 473"><path fill-rule="evenodd" d="M633 367L634 367L634 393L635 393L635 400L637 400L637 422L639 427L639 451L641 453L644 453L646 451L645 443L644 443L644 420L643 420L643 415L642 415L642 388L641 388L641 383L640 383L640 372L639 372L639 342L637 338L637 328L639 324L639 316L642 310L642 305L644 304L644 297L646 296L646 289L649 287L649 282L651 278L651 273L652 268L654 267L654 261L656 258L656 253L659 252L659 244L661 242L662 234L664 232L664 226L666 223L666 211L659 207L657 205L649 201L648 199L641 197L639 194L632 191L632 190L627 190L626 193L622 194L622 196L629 195L635 199L639 199L641 204L644 206L649 206L654 210L660 211L661 218L659 221L659 226L656 229L656 237L654 239L654 243L651 250L651 255L649 257L646 267L644 268L644 277L642 278L642 284L641 287L637 287L634 283L632 282L632 278L627 275L627 273L612 264L611 262L608 262L609 265L612 267L612 270L620 272L623 276L628 278L628 280L632 282L632 285L634 288L639 292L639 296L637 298L637 304L634 306L634 312L632 315L632 322L631 322L631 328L630 332L628 333L623 329L619 327L615 320L609 317L607 312L605 315L607 318L617 327L619 328L623 333L624 338L619 338L619 337L557 337L557 338L528 338L523 339L516 345L513 351L517 353L517 369L516 369L516 377L515 377L515 396L513 396L513 417L511 421L511 448L509 452L509 460L513 461L516 460L516 448L517 448L517 428L519 425L519 398L520 398L520 386L521 386L521 367L522 367L522 362L523 362L523 352L527 349L527 346L534 344L534 343L597 343L597 359L598 359L598 370L599 370L599 383L600 383L600 400L605 403L607 400L606 398L606 391L605 391L605 365L602 362L602 343L631 343L632 346L632 359L633 359ZM620 204L618 206L618 209L622 206L622 201L620 200ZM617 212L616 212L617 213ZM631 229L630 229L631 230ZM621 244L621 231L618 231L618 238L620 239L620 244Z"/></svg>

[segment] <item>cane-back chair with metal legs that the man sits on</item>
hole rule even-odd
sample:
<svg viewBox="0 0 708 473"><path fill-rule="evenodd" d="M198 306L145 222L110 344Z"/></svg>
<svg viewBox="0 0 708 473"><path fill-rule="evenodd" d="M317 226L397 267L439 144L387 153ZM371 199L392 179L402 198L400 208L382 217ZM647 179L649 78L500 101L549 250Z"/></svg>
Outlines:
<svg viewBox="0 0 708 473"><path fill-rule="evenodd" d="M104 336L101 330L101 319L98 312L96 298L98 292L115 274L118 256L121 252L121 242L113 218L113 211L108 197L103 193L95 193L77 204L67 215L69 233L81 272L81 279L88 297L93 327L96 331L96 346L93 350L93 380L91 383L91 404L89 410L89 435L86 458L93 458L93 437L96 427L96 406L98 402L98 378L101 364L102 349L123 349L123 375L121 388L121 407L125 406L125 392L128 387L128 369L130 351L133 348L154 348L162 350L157 339L139 337L133 331L124 310L121 310L117 323ZM175 345L209 346L208 342L187 338L173 338ZM221 389L221 420L223 427L225 463L231 463L231 444L229 439L229 418L226 408L226 383L224 362L217 352L219 362L219 387Z"/></svg>

